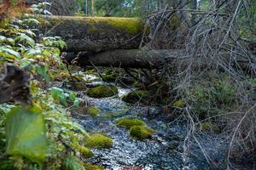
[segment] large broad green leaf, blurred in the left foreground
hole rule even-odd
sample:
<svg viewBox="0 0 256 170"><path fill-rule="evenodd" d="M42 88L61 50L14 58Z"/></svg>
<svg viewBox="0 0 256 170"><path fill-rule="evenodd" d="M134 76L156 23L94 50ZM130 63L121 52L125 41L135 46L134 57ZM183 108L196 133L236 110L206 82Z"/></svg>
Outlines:
<svg viewBox="0 0 256 170"><path fill-rule="evenodd" d="M21 106L9 112L6 120L7 154L43 162L47 151L46 127L40 108Z"/></svg>

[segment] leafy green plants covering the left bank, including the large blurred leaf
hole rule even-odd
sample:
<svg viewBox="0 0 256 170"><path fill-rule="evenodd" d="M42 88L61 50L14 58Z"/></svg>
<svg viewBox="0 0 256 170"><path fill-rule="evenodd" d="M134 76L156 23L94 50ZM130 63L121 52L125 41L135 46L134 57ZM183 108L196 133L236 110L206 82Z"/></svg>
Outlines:
<svg viewBox="0 0 256 170"><path fill-rule="evenodd" d="M39 6L32 6L32 8L36 7L39 13L45 14L45 8L39 10ZM71 107L79 106L80 99L77 98L77 94L63 92L61 88L46 90L51 86L49 71L53 69L61 71L66 68L60 58L60 48L65 48L66 44L60 37L42 37L41 42L36 41L36 34L33 31L37 29L26 28L27 25L37 28L38 23L39 21L30 14L24 14L15 20L1 20L0 69L3 69L3 65L12 64L29 71L32 75L31 103L38 107L0 105L2 130L0 152L4 152L3 147L7 142L6 152L11 156L9 158L14 162L15 168L39 169L38 164L47 160L45 163L50 169L59 169L61 161L67 157L66 148L59 138L70 145L77 154L89 156L89 150L79 147L88 134L83 127L72 121L67 109L70 104L72 104ZM36 109L39 107L42 109L40 113L39 109ZM44 122L47 124L47 129ZM6 131L3 130L3 125L6 126ZM48 159L44 159L45 156ZM38 163L32 163L32 161ZM4 162L0 164L3 166ZM0 169L2 169L1 166ZM9 167L11 168L12 165L10 164ZM74 169L78 168L75 166Z"/></svg>

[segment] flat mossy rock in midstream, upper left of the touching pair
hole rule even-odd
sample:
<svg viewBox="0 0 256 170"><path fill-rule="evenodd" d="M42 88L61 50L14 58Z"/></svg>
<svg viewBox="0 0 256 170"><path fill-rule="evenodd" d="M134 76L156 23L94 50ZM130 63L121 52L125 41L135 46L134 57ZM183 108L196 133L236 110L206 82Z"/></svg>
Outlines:
<svg viewBox="0 0 256 170"><path fill-rule="evenodd" d="M133 127L133 126L145 126L146 123L138 120L136 118L124 118L124 119L119 119L116 122L117 126L119 127L125 127L127 129Z"/></svg>

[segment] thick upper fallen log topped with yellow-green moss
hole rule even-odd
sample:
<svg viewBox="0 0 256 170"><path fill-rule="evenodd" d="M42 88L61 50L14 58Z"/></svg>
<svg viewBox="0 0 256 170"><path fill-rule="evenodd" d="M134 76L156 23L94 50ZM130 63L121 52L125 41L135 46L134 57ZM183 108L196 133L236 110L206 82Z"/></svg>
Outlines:
<svg viewBox="0 0 256 170"><path fill-rule="evenodd" d="M104 51L138 48L144 22L137 18L37 15L44 36L60 36L66 51ZM148 27L149 30L149 27Z"/></svg>

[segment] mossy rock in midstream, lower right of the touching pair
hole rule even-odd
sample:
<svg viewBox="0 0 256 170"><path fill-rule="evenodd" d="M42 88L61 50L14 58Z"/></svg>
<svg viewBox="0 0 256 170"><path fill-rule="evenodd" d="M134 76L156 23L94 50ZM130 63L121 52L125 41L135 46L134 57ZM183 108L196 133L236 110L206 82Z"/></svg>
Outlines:
<svg viewBox="0 0 256 170"><path fill-rule="evenodd" d="M154 130L143 126L133 126L130 128L130 135L136 139L148 139L152 137Z"/></svg>

